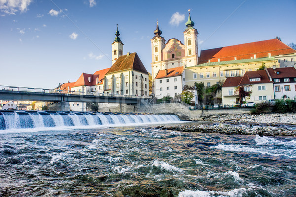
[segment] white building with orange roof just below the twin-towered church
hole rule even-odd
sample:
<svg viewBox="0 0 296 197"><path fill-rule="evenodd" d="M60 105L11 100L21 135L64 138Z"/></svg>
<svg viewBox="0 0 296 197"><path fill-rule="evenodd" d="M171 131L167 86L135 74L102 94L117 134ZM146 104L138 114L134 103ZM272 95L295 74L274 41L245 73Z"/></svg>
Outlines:
<svg viewBox="0 0 296 197"><path fill-rule="evenodd" d="M184 67L159 70L154 81L155 97L161 99L164 96L175 98L182 93L185 85Z"/></svg>

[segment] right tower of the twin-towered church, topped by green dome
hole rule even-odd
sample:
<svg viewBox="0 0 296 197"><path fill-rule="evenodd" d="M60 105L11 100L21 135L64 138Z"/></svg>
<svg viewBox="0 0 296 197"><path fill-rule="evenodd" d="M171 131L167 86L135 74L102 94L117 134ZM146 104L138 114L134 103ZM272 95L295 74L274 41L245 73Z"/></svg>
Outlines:
<svg viewBox="0 0 296 197"><path fill-rule="evenodd" d="M184 49L185 57L184 60L185 66L195 66L198 63L198 42L197 42L197 30L193 27L194 22L191 20L190 9L188 21L186 22L186 29L183 32L184 34Z"/></svg>

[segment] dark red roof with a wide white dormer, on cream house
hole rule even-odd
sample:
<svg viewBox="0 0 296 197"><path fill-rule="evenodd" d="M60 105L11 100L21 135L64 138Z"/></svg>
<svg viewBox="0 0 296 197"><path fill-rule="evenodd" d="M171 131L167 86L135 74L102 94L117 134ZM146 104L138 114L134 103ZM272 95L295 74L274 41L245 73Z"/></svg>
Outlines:
<svg viewBox="0 0 296 197"><path fill-rule="evenodd" d="M251 78L260 78L260 81L250 81ZM259 83L273 83L270 81L265 70L247 71L239 85L252 85Z"/></svg>

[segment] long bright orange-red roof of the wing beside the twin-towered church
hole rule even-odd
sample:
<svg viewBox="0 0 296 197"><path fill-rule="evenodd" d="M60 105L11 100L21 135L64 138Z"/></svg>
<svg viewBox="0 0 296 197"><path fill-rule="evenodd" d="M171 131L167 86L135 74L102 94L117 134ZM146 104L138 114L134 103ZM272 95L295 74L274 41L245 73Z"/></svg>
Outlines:
<svg viewBox="0 0 296 197"><path fill-rule="evenodd" d="M278 39L270 39L265 41L250 42L245 44L238 44L233 46L225 46L221 48L213 48L208 50L201 50L198 64L211 62L250 59L250 57L262 58L271 56L294 54L293 50Z"/></svg>

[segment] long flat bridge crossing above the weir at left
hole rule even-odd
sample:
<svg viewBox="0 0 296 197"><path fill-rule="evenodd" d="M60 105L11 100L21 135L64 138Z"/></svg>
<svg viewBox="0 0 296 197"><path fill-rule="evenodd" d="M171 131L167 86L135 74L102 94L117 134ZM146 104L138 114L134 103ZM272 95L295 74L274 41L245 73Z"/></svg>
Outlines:
<svg viewBox="0 0 296 197"><path fill-rule="evenodd" d="M73 91L61 93L56 89L0 86L0 100L137 104L140 103L141 100L150 99L151 97L149 96L114 95L98 92Z"/></svg>

